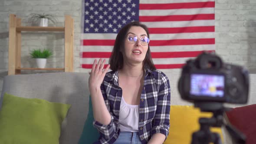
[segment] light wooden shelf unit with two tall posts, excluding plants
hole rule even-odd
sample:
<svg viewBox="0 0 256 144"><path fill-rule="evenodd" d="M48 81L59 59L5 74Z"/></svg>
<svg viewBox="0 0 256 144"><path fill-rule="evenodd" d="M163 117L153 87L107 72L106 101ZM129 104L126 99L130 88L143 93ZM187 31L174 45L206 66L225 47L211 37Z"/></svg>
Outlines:
<svg viewBox="0 0 256 144"><path fill-rule="evenodd" d="M48 31L64 32L64 68L21 68L21 32L22 31ZM74 20L71 16L65 16L64 27L21 26L21 19L10 14L9 18L9 51L8 51L8 75L20 74L21 70L57 70L73 72L73 44Z"/></svg>

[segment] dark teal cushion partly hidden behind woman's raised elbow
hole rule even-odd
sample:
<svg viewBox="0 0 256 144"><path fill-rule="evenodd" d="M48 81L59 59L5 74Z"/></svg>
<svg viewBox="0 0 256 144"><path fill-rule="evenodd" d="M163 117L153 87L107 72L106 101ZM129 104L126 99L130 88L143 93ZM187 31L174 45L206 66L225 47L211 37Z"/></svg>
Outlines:
<svg viewBox="0 0 256 144"><path fill-rule="evenodd" d="M79 144L92 144L98 140L98 137L100 136L100 134L98 133L98 130L93 127L92 125L93 120L94 118L93 118L93 111L92 111L92 100L91 100L91 96L89 96L89 112L84 124L83 132L79 140Z"/></svg>

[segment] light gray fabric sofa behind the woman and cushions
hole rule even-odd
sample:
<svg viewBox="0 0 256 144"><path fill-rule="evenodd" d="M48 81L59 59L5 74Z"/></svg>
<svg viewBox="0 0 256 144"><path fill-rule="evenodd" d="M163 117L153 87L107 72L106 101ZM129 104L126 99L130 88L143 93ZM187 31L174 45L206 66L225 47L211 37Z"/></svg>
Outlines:
<svg viewBox="0 0 256 144"><path fill-rule="evenodd" d="M192 105L183 101L177 91L177 81L180 74L165 73L171 83L171 105ZM252 80L256 76L251 76ZM41 98L52 102L71 104L66 119L62 123L60 144L77 144L88 114L89 73L55 72L26 75L9 75L3 79L3 90L0 99L0 108L5 92L24 98ZM255 93L250 91L250 93ZM256 98L250 98L249 104L255 104ZM230 105L232 107L241 105ZM223 131L224 143L232 144Z"/></svg>

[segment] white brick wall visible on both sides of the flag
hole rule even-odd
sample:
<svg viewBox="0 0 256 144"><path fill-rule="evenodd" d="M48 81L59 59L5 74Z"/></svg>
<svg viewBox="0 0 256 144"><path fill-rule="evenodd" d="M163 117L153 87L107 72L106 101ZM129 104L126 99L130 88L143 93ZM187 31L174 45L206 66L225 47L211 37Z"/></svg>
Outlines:
<svg viewBox="0 0 256 144"><path fill-rule="evenodd" d="M85 72L79 68L81 8L82 0L0 0L0 74L7 74L10 13L22 18L24 26L28 25L27 17L30 13L55 14L59 19L57 26L64 25L65 14L71 15L75 26L74 71ZM225 62L244 65L250 72L255 73L256 0L216 0L215 19L217 54ZM63 36L59 33L23 33L22 66L35 65L28 53L39 47L54 50L54 56L48 59L48 67L63 67L63 43Z"/></svg>

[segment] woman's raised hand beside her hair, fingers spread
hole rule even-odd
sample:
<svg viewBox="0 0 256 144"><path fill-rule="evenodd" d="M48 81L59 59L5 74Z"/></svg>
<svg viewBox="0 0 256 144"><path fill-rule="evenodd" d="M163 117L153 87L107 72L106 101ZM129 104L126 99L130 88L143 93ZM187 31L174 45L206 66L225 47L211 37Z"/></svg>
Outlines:
<svg viewBox="0 0 256 144"><path fill-rule="evenodd" d="M102 62L102 59L99 59L98 63L97 60L95 59L92 65L92 71L90 73L89 77L89 90L92 92L93 90L97 90L100 88L100 85L103 82L103 79L108 72L108 69L110 65L104 69L106 60L104 59Z"/></svg>

